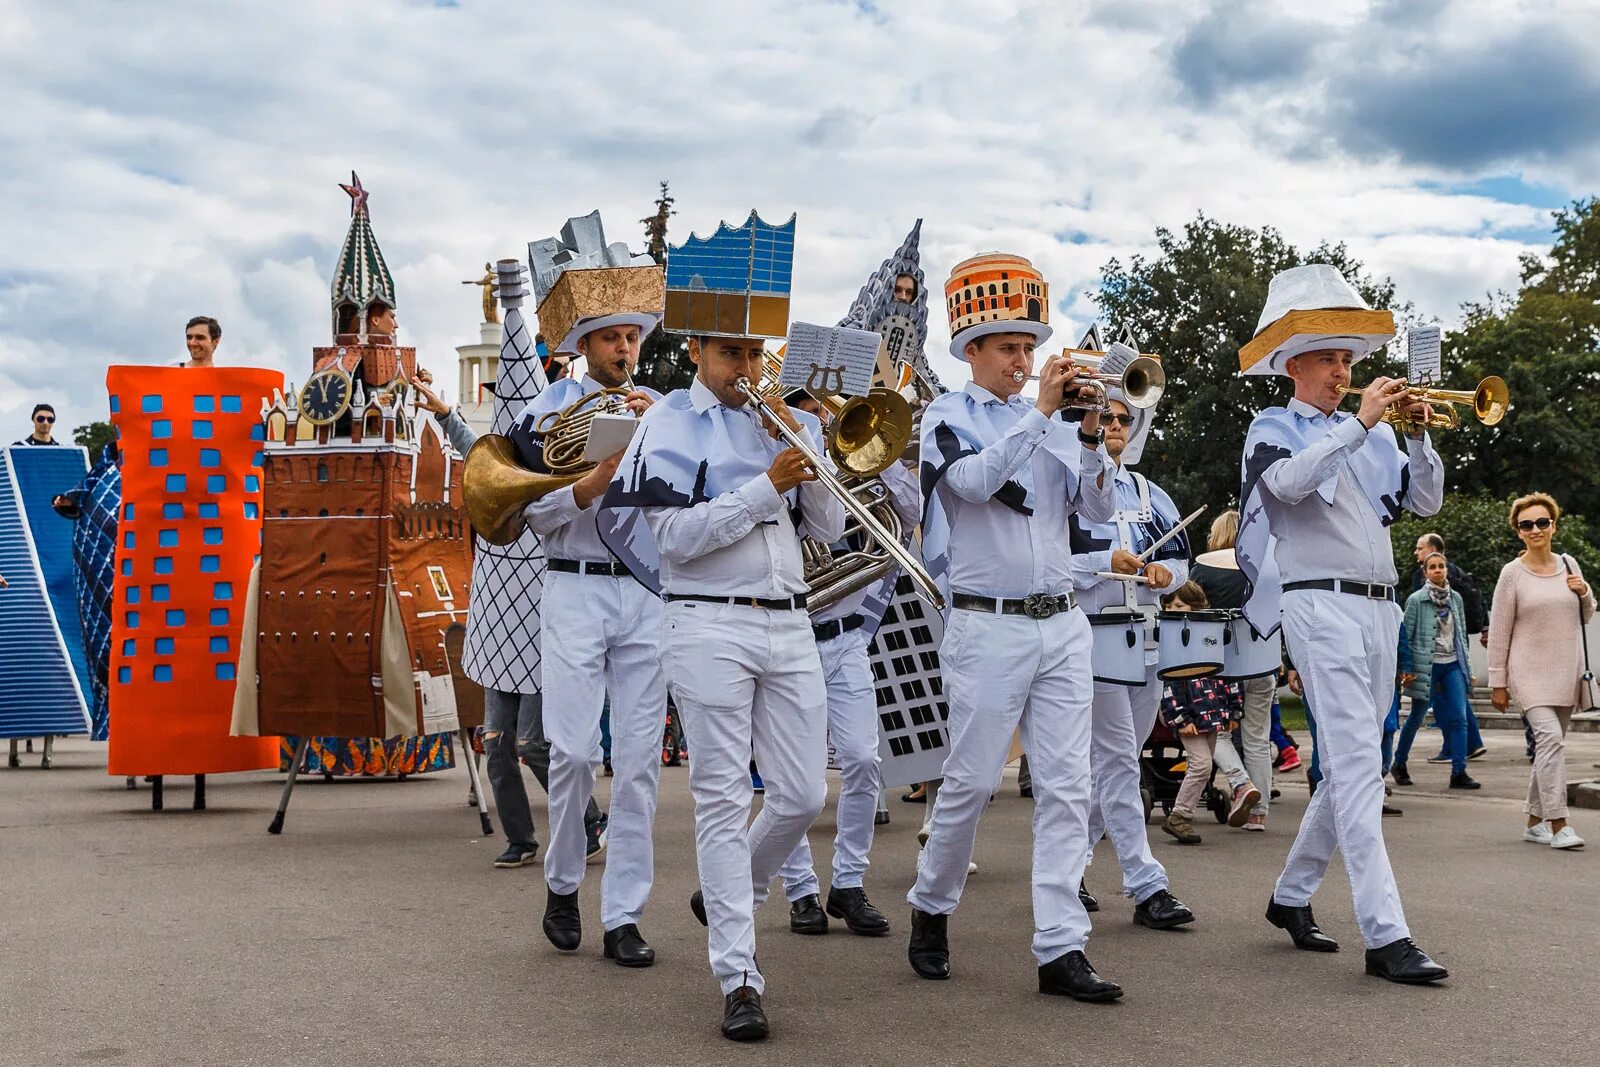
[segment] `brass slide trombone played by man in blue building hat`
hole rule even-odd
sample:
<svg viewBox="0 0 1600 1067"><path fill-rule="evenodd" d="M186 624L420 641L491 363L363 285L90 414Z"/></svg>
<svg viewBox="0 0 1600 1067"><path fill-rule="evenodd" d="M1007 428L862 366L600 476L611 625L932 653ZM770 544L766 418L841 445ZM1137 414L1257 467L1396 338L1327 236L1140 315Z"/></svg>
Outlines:
<svg viewBox="0 0 1600 1067"><path fill-rule="evenodd" d="M856 493L853 493L843 482L838 480L837 475L834 475L832 470L822 464L822 458L816 454L803 434L795 434L782 422L782 419L776 416L771 403L768 403L766 397L763 397L750 384L749 378L738 378L733 386L746 395L757 414L763 416L778 429L778 435L784 438L790 448L798 448L805 454L811 464L811 474L816 475L816 480L822 485L822 488L832 493L834 498L845 506L850 517L856 520L861 531L877 541L883 552L886 552L890 558L893 558L894 563L910 576L910 581L917 585L917 592L922 593L922 597L938 611L944 611L944 595L934 584L933 576L928 574L926 568L923 568L922 560L912 555L906 545L901 544L899 536L885 530L869 506L864 504ZM896 398L904 405L902 397ZM856 402L861 402L864 406L856 405ZM832 408L837 400L830 397L824 403ZM853 414L853 405L854 410L862 411L862 414ZM835 421L845 422L845 419L850 419L850 424L842 424L837 434L829 434L829 454L835 458L835 462L838 462L842 469L856 477L872 477L899 458L898 451L891 451L893 443L885 440L893 432L894 421L888 411L882 410L880 405L874 405L872 395L851 397L840 405ZM862 434L869 424L877 422L885 424L883 432L874 429L870 435ZM901 435L901 440L904 440L904 435ZM843 459L842 462L840 458Z"/></svg>

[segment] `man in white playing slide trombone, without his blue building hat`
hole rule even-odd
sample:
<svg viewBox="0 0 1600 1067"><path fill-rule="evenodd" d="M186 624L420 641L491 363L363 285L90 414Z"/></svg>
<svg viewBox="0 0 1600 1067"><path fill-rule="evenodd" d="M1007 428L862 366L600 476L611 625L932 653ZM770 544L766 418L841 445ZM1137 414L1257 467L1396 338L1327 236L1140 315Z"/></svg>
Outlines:
<svg viewBox="0 0 1600 1067"><path fill-rule="evenodd" d="M670 286L669 267L669 307ZM694 381L651 408L606 506L640 509L659 553L661 661L694 797L701 889L690 907L710 931L722 1032L750 1041L768 1033L755 909L827 798L827 688L800 536L838 541L845 509L741 389L762 379L763 338L699 334L688 352ZM765 403L821 458L814 418ZM752 752L765 781L754 822Z"/></svg>

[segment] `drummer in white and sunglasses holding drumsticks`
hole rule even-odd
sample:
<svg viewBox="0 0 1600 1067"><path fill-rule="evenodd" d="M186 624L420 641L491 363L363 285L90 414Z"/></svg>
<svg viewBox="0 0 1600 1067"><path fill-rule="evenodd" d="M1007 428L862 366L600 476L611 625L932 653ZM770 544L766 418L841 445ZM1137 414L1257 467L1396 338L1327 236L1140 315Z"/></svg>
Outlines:
<svg viewBox="0 0 1600 1067"><path fill-rule="evenodd" d="M1179 514L1162 486L1131 470L1144 453L1154 408L1134 408L1115 386L1107 386L1106 402L1106 454L1115 464L1117 512L1107 523L1093 523L1082 514L1069 520L1072 581L1078 603L1090 614L1131 608L1146 616L1144 685L1094 683L1090 848L1102 833L1110 837L1122 864L1123 894L1134 902L1133 921L1150 929L1170 929L1192 923L1195 917L1171 894L1166 869L1150 854L1144 800L1139 795L1139 750L1155 726L1155 712L1162 702L1150 616L1163 595L1189 579L1189 541L1179 533L1157 549L1149 561L1139 558L1179 523ZM1098 577L1106 573L1139 574L1144 581ZM1250 803L1258 798L1259 793ZM1238 809L1248 814L1248 806ZM1098 902L1094 907L1099 907Z"/></svg>

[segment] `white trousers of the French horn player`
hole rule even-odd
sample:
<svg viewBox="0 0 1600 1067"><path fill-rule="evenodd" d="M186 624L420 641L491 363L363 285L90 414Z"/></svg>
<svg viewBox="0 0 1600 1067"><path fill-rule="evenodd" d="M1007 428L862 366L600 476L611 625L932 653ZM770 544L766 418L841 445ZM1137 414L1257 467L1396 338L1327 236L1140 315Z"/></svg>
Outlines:
<svg viewBox="0 0 1600 1067"><path fill-rule="evenodd" d="M600 712L611 694L611 814L600 923L637 923L654 880L656 784L667 689L661 678L661 600L632 577L549 571L539 603L544 736L550 742L550 849L544 881L584 880L584 808L594 793Z"/></svg>

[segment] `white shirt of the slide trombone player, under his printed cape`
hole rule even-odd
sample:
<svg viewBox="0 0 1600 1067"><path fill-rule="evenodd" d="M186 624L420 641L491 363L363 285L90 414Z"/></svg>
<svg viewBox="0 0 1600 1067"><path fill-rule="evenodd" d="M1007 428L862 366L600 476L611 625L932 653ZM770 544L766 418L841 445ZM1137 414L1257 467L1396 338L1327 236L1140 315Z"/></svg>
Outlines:
<svg viewBox="0 0 1600 1067"><path fill-rule="evenodd" d="M694 411L725 406L699 378L690 386ZM725 408L730 427L747 422L744 445L778 456L787 445L773 440L760 416L746 406ZM822 454L813 437L813 451ZM717 456L709 456L717 462ZM827 462L826 456L822 458ZM816 482L800 485L802 528L789 518L787 501L766 474L691 507L646 507L645 520L661 553L666 593L782 598L806 592L800 533L824 544L845 533L845 506Z"/></svg>

